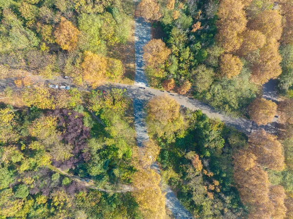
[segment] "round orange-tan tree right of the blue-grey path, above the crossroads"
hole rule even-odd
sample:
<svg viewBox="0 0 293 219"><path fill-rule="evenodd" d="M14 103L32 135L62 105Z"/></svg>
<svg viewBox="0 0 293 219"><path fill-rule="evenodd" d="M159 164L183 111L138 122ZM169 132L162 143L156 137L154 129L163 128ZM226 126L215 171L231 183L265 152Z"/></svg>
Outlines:
<svg viewBox="0 0 293 219"><path fill-rule="evenodd" d="M160 39L152 39L144 46L144 60L148 66L153 68L164 64L170 53L171 50Z"/></svg>

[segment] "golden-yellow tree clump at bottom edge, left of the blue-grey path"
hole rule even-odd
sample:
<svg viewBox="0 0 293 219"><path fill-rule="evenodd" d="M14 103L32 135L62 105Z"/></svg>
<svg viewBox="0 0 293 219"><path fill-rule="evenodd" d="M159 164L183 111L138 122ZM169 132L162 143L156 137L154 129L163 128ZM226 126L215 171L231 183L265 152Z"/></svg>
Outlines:
<svg viewBox="0 0 293 219"><path fill-rule="evenodd" d="M144 219L164 219L165 194L160 189L161 177L154 170L140 170L134 174L133 196L139 204Z"/></svg>

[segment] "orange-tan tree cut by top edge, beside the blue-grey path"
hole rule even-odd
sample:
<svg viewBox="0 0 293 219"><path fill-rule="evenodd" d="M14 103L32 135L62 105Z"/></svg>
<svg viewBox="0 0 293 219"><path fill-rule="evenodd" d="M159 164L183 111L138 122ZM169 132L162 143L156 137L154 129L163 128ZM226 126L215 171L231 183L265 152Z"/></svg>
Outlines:
<svg viewBox="0 0 293 219"><path fill-rule="evenodd" d="M147 21L159 20L162 17L157 0L142 0L138 5L138 15Z"/></svg>

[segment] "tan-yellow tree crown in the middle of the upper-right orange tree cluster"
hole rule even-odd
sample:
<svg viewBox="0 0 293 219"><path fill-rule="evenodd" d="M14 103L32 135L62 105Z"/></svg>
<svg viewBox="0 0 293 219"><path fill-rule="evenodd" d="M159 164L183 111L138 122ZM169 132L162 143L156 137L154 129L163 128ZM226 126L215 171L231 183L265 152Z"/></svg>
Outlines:
<svg viewBox="0 0 293 219"><path fill-rule="evenodd" d="M266 43L266 37L258 30L246 30L242 33L243 42L239 53L243 56L262 48Z"/></svg>

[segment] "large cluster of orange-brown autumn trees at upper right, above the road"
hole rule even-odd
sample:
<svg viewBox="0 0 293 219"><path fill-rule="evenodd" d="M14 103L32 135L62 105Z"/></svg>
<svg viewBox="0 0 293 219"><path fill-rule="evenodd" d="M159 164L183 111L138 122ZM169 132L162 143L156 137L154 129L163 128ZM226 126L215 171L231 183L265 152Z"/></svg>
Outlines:
<svg viewBox="0 0 293 219"><path fill-rule="evenodd" d="M264 84L270 79L275 79L282 72L278 51L278 40L282 34L282 18L278 10L252 9L253 6L250 8L250 4L251 1L220 1L217 40L226 53L234 52L242 57L249 56L252 62L251 82ZM246 20L244 6L246 6L245 9L249 8L251 16L249 22ZM223 63L226 64L225 67L221 66ZM232 71L228 71L227 66ZM227 72L233 73L228 74L228 78L239 72L239 67L229 65L227 59L220 60L220 67L222 75L226 75Z"/></svg>

